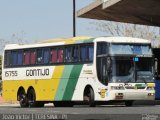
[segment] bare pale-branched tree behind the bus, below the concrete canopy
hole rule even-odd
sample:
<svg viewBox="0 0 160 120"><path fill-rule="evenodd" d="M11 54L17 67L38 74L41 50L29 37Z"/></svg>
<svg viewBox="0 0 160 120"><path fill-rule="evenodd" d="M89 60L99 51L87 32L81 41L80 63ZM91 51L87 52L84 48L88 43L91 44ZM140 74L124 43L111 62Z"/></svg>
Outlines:
<svg viewBox="0 0 160 120"><path fill-rule="evenodd" d="M94 30L105 32L107 36L137 37L151 40L153 47L160 47L160 28L129 23L98 21L92 22Z"/></svg>

